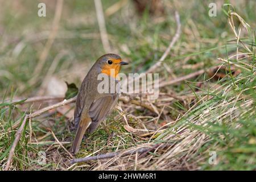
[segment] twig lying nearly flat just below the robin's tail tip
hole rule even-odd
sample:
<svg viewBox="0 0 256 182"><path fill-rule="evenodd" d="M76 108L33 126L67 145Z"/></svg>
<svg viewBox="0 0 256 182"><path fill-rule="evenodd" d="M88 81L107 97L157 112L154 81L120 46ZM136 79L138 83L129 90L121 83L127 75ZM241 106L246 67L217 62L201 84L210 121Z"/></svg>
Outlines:
<svg viewBox="0 0 256 182"><path fill-rule="evenodd" d="M144 153L144 152L148 152L151 151L151 148L156 148L156 147L160 147L160 144L155 144L152 147L143 147L143 148L136 148L134 150L129 150L129 151L124 151L124 152L110 152L108 154L101 154L101 155L96 155L96 156L89 156L89 157L85 157L85 158L77 158L77 159L73 159L71 160L71 164L74 163L81 163L81 162L88 162L90 160L99 160L99 159L108 159L108 158L114 158L117 155L120 156L127 156L127 155L132 155L135 154L136 152L138 154ZM166 145L162 145L161 148L166 147Z"/></svg>

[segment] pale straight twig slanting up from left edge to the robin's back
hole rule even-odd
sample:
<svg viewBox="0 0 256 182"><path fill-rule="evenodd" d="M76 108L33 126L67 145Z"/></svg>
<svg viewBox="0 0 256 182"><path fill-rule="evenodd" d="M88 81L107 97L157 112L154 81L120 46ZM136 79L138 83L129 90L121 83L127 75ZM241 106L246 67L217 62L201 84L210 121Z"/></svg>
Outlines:
<svg viewBox="0 0 256 182"><path fill-rule="evenodd" d="M42 114L42 113L44 113L48 110L54 109L56 107L64 106L64 105L67 105L67 104L71 104L72 102L75 102L75 101L76 101L76 97L69 98L69 100L63 100L61 102L58 102L57 104L53 104L51 106L47 106L47 107L44 107L43 109L35 111L34 113L28 115L28 118L35 118L38 115L40 115L40 114ZM15 129L16 127L18 127L19 123L20 123L20 120L15 122L14 125L11 128L8 129L8 131L11 131L12 129Z"/></svg>

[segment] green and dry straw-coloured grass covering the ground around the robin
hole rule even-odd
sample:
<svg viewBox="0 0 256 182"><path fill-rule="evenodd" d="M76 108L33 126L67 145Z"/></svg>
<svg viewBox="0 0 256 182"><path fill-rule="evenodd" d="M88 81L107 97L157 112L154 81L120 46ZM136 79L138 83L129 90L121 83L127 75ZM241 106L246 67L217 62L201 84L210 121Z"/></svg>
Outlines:
<svg viewBox="0 0 256 182"><path fill-rule="evenodd" d="M102 1L105 12L118 1ZM110 44L129 61L125 73L143 72L156 63L175 34L174 11L179 11L181 37L171 49L164 66L156 69L159 78L174 80L203 68L225 65L223 77L205 73L160 89L163 96L152 102L163 109L158 117L142 107L118 103L88 139L82 142L76 158L129 150L147 143L168 143L135 160L135 155L69 164L69 155L55 141L49 129L65 148L75 135L68 111L51 110L27 122L15 150L13 170L126 170L126 169L256 169L255 113L255 7L254 1L230 1L235 12L250 25L241 25L240 42L228 23L232 6L218 5L217 17L208 16L208 1L164 1L164 14L140 16L131 1L105 16ZM58 34L46 64L34 77L40 53L47 42L55 13L55 3L46 1L47 17L37 16L38 2L13 1L0 7L0 167L4 169L15 130L7 132L25 113L55 101L24 104L24 98L65 94L65 83L81 84L90 66L105 53L98 30L93 2L64 2ZM8 11L7 11L8 10ZM27 11L29 10L29 11ZM234 26L238 32L238 18ZM238 48L238 52L237 52ZM237 53L243 54L238 55ZM220 57L221 59L218 59ZM224 62L225 61L225 62ZM232 70L238 72L234 75ZM33 84L31 80L33 80ZM44 84L42 84L44 82ZM54 88L54 89L51 89ZM166 95L164 95L166 94ZM167 95L168 94L168 95ZM171 98L169 95L176 96ZM135 100L139 97L130 96ZM179 98L179 99L177 99ZM13 100L22 100L13 102ZM142 101L149 104L147 100ZM121 110L122 109L122 110ZM125 113L124 118L120 113ZM127 131L126 125L133 128ZM164 126L165 125L165 126ZM162 131L148 134L149 131ZM145 135L146 134L146 135ZM147 135L148 134L148 135ZM217 164L209 164L209 152ZM39 163L46 152L46 163Z"/></svg>

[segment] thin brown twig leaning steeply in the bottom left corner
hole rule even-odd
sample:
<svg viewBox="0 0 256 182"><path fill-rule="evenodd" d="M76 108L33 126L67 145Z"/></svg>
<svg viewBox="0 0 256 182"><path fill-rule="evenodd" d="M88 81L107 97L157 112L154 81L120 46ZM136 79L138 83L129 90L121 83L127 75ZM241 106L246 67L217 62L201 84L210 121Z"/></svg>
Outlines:
<svg viewBox="0 0 256 182"><path fill-rule="evenodd" d="M7 160L7 164L5 166L5 171L8 171L9 168L10 168L10 164L11 164L11 161L13 160L15 148L16 148L18 142L19 142L19 139L20 139L22 131L23 131L24 127L25 127L27 118L28 118L28 115L25 115L25 117L24 117L24 119L22 121L22 124L20 125L19 130L16 133L16 137L14 139L13 146L11 146L11 150L9 152L9 157L8 157L8 160Z"/></svg>

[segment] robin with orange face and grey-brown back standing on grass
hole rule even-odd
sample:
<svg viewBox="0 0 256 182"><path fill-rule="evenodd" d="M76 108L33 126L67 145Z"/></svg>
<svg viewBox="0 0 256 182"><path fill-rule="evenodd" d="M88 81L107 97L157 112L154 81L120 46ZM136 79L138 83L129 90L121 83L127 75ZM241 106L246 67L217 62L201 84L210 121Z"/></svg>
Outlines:
<svg viewBox="0 0 256 182"><path fill-rule="evenodd" d="M82 81L74 111L76 135L71 146L73 155L79 151L85 132L93 133L111 113L118 101L118 90L114 93L98 92L98 84L101 82L101 80L98 80L98 75L102 73L109 80L114 80L115 85L119 84L119 70L122 65L126 64L128 63L122 61L120 56L107 53L98 58ZM114 71L114 74L112 71Z"/></svg>

